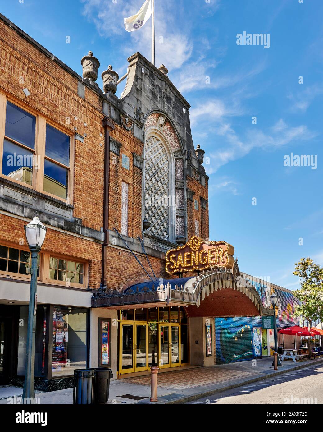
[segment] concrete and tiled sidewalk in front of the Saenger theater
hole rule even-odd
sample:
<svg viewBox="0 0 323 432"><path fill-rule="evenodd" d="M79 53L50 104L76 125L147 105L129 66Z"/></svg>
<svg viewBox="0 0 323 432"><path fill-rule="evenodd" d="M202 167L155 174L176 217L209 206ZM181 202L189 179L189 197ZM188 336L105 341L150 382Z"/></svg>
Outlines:
<svg viewBox="0 0 323 432"><path fill-rule="evenodd" d="M182 371L164 372L158 374L158 402L186 403L201 397L221 393L231 388L260 381L275 375L281 375L296 369L317 365L323 359L306 360L293 363L284 361L277 372L272 368L272 358L259 359L247 362L229 363L210 367L196 367ZM0 404L19 403L22 388L0 387ZM16 395L16 398L14 396ZM9 399L8 398L13 398ZM41 404L71 404L73 403L73 388L38 392ZM131 397L135 397L134 399ZM139 398L142 398L139 400ZM114 380L110 383L108 404L148 403L150 397L150 375Z"/></svg>

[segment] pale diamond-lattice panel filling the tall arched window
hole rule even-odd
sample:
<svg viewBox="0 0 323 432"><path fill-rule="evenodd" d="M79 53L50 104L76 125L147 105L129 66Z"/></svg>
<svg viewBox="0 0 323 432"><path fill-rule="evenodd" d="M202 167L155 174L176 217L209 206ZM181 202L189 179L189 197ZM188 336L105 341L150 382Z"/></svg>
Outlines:
<svg viewBox="0 0 323 432"><path fill-rule="evenodd" d="M163 240L174 241L174 163L162 140L152 135L145 143L145 218L148 232Z"/></svg>

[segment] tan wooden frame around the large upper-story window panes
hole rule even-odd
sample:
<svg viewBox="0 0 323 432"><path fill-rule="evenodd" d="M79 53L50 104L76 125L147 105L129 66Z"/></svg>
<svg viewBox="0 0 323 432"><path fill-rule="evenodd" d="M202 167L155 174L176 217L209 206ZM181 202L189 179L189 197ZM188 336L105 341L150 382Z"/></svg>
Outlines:
<svg viewBox="0 0 323 432"><path fill-rule="evenodd" d="M11 102L13 105L23 109L24 111L32 114L36 117L35 124L35 149L31 149L28 146L25 146L18 141L13 140L12 138L5 136L5 128L6 128L6 103ZM65 135L70 137L70 166L66 166L54 159L45 156L45 147L46 147L46 125L50 125L55 129L59 130ZM32 170L32 184L22 183L21 181L15 180L7 175L2 174L2 159L3 159L3 142L4 139L12 142L13 144L19 145L20 147L31 151L34 155L40 156L40 165L38 169ZM22 103L19 99L13 97L12 95L7 95L4 92L0 92L0 177L6 178L13 183L28 187L31 190L35 190L41 192L48 197L55 198L56 200L60 200L66 204L73 204L73 178L74 178L74 148L75 148L75 139L74 134L68 128L63 127L62 125L54 123L51 119L44 116L44 114L36 111L31 108L29 105ZM68 170L68 179L67 179L67 197L62 198L57 195L51 194L50 192L44 191L44 160L47 159L55 164L65 168Z"/></svg>

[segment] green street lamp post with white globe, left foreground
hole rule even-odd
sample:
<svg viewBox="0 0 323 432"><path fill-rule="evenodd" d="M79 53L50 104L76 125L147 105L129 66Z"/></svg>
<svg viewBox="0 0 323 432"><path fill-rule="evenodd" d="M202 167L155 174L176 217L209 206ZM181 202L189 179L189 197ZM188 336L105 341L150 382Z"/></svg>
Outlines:
<svg viewBox="0 0 323 432"><path fill-rule="evenodd" d="M25 236L31 252L30 267L30 295L28 311L28 328L27 328L27 346L26 346L26 368L24 389L22 392L21 403L33 403L31 399L35 398L35 327L36 327L36 299L37 299L37 261L38 253L44 243L46 227L44 227L35 213L32 222L25 225Z"/></svg>

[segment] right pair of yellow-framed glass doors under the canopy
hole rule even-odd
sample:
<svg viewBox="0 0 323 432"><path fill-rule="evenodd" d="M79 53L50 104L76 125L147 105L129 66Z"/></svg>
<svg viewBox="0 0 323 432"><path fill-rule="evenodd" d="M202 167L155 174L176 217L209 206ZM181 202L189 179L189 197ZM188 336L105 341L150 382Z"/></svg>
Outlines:
<svg viewBox="0 0 323 432"><path fill-rule="evenodd" d="M180 326L160 324L159 326L159 367L180 366Z"/></svg>

